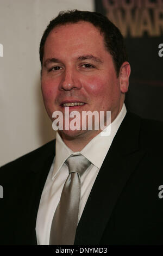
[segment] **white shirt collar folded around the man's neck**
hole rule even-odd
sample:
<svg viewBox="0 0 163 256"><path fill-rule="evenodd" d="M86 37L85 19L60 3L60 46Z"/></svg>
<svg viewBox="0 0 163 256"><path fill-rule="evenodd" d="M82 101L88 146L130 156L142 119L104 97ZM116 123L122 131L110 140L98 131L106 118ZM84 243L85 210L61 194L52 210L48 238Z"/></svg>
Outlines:
<svg viewBox="0 0 163 256"><path fill-rule="evenodd" d="M92 164L97 168L101 168L102 163L105 159L106 154L111 146L112 140L116 135L118 128L120 127L123 118L125 117L127 111L126 106L123 104L123 107L120 113L117 115L116 119L110 124L111 133L109 136L101 136L101 132L98 133L91 141L80 151L74 153L67 145L62 141L58 131L56 135L56 145L55 145L55 160L54 160L54 169L52 174L52 179L59 172L60 168L66 161L66 159L71 154L82 154L85 156ZM105 128L107 129L107 127ZM105 131L105 130L104 130ZM103 132L104 132L103 131Z"/></svg>

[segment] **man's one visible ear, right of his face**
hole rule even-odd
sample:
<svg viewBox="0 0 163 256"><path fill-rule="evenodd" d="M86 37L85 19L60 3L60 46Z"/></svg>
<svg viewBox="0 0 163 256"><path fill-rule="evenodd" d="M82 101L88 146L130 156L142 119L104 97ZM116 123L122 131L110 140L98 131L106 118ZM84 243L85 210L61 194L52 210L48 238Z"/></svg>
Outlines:
<svg viewBox="0 0 163 256"><path fill-rule="evenodd" d="M130 72L130 64L128 62L123 62L119 74L120 89L122 93L128 91Z"/></svg>

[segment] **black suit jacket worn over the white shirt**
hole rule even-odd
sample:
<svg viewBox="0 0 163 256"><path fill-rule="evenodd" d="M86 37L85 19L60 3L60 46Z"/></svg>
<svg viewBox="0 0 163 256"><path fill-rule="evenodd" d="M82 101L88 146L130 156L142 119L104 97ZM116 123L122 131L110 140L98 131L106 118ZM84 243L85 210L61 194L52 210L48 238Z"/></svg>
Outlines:
<svg viewBox="0 0 163 256"><path fill-rule="evenodd" d="M162 131L161 123L127 113L87 199L75 245L163 244ZM1 167L0 244L36 245L37 210L54 155L52 141Z"/></svg>

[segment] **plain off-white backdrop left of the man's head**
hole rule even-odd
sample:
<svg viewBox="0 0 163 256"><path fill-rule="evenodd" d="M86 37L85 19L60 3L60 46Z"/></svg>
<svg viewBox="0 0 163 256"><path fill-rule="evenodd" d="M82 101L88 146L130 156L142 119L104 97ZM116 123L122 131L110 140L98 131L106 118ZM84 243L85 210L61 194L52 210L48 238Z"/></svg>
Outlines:
<svg viewBox="0 0 163 256"><path fill-rule="evenodd" d="M40 39L59 11L93 11L93 2L0 0L0 166L55 137L40 89Z"/></svg>

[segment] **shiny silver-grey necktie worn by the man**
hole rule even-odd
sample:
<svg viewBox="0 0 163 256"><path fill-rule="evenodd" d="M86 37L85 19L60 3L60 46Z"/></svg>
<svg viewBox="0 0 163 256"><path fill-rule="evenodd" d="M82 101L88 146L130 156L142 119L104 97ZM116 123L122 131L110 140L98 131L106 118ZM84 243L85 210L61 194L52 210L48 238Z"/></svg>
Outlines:
<svg viewBox="0 0 163 256"><path fill-rule="evenodd" d="M49 245L73 245L78 225L81 193L80 176L91 162L83 155L71 155L65 161L69 175L61 193L51 225Z"/></svg>

